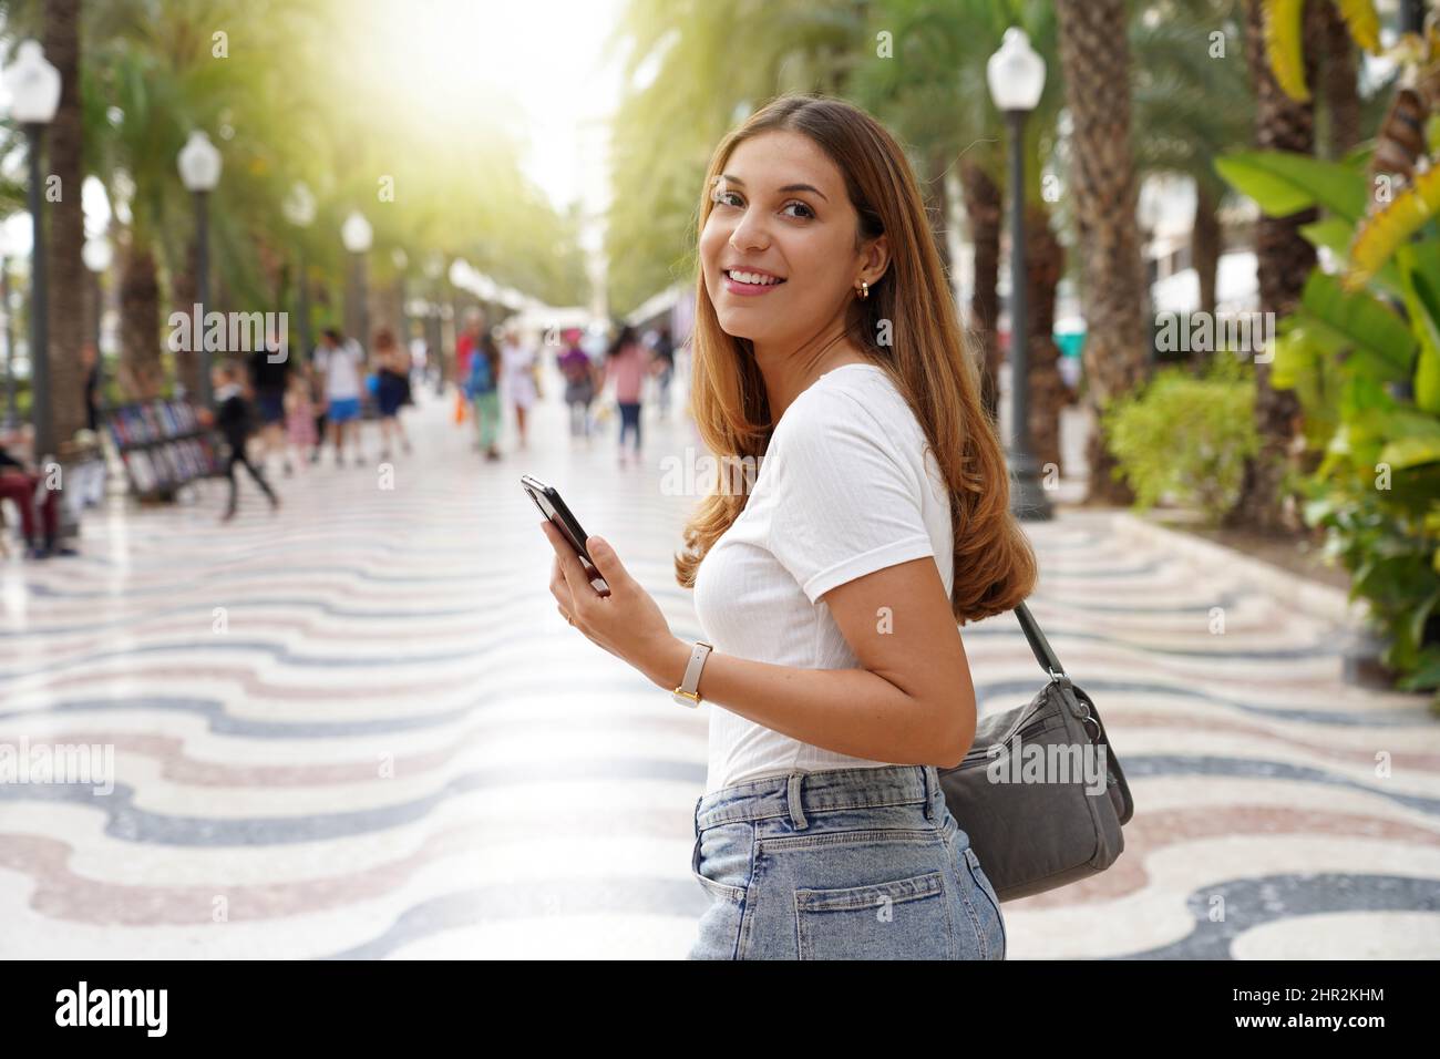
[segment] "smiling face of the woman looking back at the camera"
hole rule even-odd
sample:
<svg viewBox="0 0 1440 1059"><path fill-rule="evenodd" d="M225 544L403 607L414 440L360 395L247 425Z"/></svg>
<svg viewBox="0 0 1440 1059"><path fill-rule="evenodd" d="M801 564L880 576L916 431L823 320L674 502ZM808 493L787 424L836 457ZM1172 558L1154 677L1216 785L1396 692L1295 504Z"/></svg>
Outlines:
<svg viewBox="0 0 1440 1059"><path fill-rule="evenodd" d="M706 290L726 334L757 344L801 344L842 317L867 255L858 216L835 163L791 131L746 140L711 189L700 233ZM765 274L743 282L730 269ZM773 277L773 280L770 280Z"/></svg>

